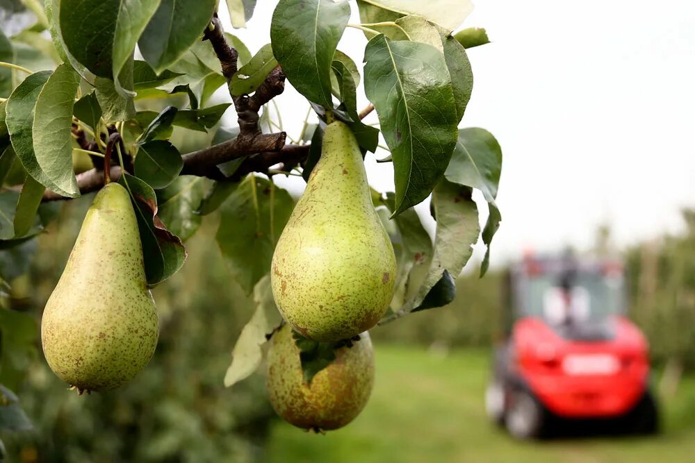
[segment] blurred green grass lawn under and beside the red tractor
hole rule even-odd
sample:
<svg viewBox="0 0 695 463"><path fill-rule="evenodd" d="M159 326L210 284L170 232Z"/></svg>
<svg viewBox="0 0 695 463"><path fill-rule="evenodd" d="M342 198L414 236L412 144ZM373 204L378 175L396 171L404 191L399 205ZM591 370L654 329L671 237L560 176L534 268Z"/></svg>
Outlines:
<svg viewBox="0 0 695 463"><path fill-rule="evenodd" d="M695 380L667 404L666 430L653 438L565 439L518 443L486 419L484 351L447 357L420 348L376 346L370 402L342 430L313 435L277 421L271 463L635 463L695 461Z"/></svg>

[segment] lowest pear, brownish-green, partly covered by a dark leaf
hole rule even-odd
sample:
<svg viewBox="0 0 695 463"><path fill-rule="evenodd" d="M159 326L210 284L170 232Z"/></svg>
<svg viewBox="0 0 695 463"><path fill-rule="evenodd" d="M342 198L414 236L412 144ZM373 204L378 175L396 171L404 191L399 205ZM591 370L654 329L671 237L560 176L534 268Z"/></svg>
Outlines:
<svg viewBox="0 0 695 463"><path fill-rule="evenodd" d="M369 400L374 386L374 350L367 332L351 347L336 350L336 360L304 382L300 349L290 326L272 336L268 351L268 396L297 428L334 430L350 423Z"/></svg>

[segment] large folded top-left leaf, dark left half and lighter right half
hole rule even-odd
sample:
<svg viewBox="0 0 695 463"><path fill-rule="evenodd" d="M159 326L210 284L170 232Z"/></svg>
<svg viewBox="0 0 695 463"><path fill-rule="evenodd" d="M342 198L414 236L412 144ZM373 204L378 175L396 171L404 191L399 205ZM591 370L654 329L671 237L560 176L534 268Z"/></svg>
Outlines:
<svg viewBox="0 0 695 463"><path fill-rule="evenodd" d="M60 0L60 35L81 65L95 76L118 81L158 6L159 0ZM115 89L126 94L120 86Z"/></svg>

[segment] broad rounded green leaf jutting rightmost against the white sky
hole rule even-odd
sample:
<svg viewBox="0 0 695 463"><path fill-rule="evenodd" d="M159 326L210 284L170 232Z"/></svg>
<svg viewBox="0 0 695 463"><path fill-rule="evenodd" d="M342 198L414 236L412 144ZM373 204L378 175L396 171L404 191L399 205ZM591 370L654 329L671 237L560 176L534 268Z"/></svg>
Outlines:
<svg viewBox="0 0 695 463"><path fill-rule="evenodd" d="M462 128L444 176L459 185L477 188L493 202L502 174L502 149L484 128Z"/></svg>

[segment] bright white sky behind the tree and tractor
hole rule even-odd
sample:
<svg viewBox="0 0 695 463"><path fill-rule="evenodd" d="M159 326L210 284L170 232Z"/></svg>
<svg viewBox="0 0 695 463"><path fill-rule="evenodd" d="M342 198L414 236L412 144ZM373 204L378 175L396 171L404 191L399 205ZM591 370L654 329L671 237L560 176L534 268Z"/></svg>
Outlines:
<svg viewBox="0 0 695 463"><path fill-rule="evenodd" d="M259 0L246 30L220 15L253 53L270 42L276 3ZM493 41L468 52L475 83L461 122L487 128L504 153L493 264L585 249L599 224L619 245L682 229L680 209L695 207L695 2L478 0L469 26ZM359 63L365 45L348 28L338 48ZM289 86L277 102L296 137L308 106ZM370 183L393 190L391 165L374 158Z"/></svg>

